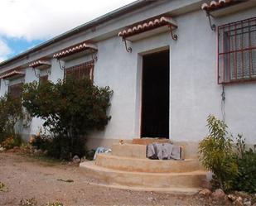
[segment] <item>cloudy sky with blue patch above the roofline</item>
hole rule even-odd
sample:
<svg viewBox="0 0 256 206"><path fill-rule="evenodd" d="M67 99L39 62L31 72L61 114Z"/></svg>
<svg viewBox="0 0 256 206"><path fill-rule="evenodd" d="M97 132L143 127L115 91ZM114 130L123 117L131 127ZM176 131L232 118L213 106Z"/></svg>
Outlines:
<svg viewBox="0 0 256 206"><path fill-rule="evenodd" d="M135 0L0 0L0 62Z"/></svg>

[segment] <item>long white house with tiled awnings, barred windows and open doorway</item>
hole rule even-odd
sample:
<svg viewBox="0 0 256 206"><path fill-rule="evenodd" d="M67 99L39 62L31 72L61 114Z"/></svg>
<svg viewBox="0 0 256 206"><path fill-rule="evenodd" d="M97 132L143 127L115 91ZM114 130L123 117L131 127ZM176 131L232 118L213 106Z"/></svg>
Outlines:
<svg viewBox="0 0 256 206"><path fill-rule="evenodd" d="M63 68L114 90L111 121L89 147L167 137L196 155L210 113L256 144L254 0L138 0L3 61L1 95L38 74L63 79ZM40 127L34 118L22 134Z"/></svg>

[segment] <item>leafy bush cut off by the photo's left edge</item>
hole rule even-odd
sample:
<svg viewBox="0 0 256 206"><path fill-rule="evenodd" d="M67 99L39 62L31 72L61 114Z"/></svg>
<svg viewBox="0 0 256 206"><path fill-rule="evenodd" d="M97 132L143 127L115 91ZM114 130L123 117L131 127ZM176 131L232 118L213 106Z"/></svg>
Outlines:
<svg viewBox="0 0 256 206"><path fill-rule="evenodd" d="M14 145L17 146L17 142L21 142L20 137L15 132L15 124L22 119L22 99L14 98L10 94L5 94L0 98L0 143L5 141L7 137L11 142L10 137L15 141Z"/></svg>

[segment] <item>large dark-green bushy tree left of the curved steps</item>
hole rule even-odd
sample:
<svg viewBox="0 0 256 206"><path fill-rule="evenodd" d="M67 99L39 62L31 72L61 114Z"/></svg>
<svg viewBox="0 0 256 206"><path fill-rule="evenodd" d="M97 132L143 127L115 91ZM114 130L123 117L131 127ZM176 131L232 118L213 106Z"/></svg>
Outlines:
<svg viewBox="0 0 256 206"><path fill-rule="evenodd" d="M83 155L82 141L88 132L103 130L107 125L112 93L109 87L99 88L89 79L78 80L68 76L56 84L49 81L25 84L23 105L31 116L45 120L44 126L56 140L61 141L60 145L63 144L61 150L68 147L63 151L65 156L59 156L68 158Z"/></svg>

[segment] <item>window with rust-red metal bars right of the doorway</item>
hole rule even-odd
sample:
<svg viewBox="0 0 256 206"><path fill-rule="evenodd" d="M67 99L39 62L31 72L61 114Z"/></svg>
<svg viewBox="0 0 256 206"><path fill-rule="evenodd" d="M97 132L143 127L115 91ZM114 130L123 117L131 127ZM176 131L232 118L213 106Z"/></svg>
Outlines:
<svg viewBox="0 0 256 206"><path fill-rule="evenodd" d="M218 83L256 80L256 17L218 27Z"/></svg>

